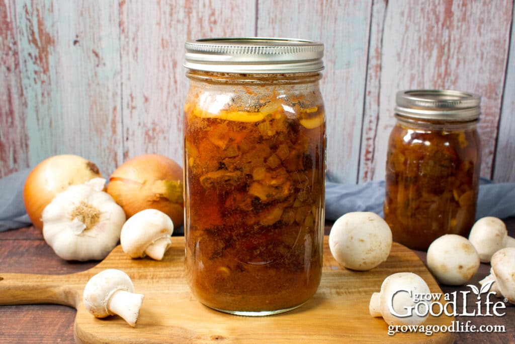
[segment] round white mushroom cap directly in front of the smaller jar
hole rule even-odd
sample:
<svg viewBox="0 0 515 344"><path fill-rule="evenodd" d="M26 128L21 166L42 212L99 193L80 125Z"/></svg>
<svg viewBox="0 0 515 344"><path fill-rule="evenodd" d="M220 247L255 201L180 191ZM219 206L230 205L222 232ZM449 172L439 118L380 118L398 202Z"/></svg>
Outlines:
<svg viewBox="0 0 515 344"><path fill-rule="evenodd" d="M439 237L427 249L427 267L443 284L465 284L477 272L479 264L474 245L456 234Z"/></svg>

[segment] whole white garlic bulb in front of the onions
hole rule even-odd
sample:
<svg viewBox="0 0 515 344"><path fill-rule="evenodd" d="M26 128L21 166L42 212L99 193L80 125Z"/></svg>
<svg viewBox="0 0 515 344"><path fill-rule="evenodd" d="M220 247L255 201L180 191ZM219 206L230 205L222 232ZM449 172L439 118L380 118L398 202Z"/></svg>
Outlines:
<svg viewBox="0 0 515 344"><path fill-rule="evenodd" d="M42 213L43 237L66 260L103 259L115 247L125 212L93 178L57 194Z"/></svg>

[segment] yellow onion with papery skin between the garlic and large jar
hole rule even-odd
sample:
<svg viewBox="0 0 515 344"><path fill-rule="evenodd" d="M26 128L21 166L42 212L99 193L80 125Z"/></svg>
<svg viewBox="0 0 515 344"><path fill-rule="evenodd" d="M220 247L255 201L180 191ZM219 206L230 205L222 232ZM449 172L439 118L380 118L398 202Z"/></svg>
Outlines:
<svg viewBox="0 0 515 344"><path fill-rule="evenodd" d="M182 190L182 168L159 154L125 161L107 185L107 192L124 209L127 218L144 209L157 209L168 215L176 227L184 221Z"/></svg>

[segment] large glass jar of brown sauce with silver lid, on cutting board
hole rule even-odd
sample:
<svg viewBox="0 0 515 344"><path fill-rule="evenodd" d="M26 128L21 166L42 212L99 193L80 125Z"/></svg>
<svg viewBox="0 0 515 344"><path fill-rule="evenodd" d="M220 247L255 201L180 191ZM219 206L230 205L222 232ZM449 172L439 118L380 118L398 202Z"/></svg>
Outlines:
<svg viewBox="0 0 515 344"><path fill-rule="evenodd" d="M185 272L222 312L286 312L322 272L323 45L227 38L186 43Z"/></svg>

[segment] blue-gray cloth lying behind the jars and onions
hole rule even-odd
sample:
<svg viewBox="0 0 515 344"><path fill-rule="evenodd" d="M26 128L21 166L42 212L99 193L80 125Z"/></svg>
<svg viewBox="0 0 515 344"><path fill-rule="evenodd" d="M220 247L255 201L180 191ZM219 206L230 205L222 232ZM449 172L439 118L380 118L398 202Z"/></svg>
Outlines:
<svg viewBox="0 0 515 344"><path fill-rule="evenodd" d="M30 225L23 204L23 185L30 169L0 179L0 232ZM383 216L385 182L359 185L325 183L325 219L336 220L350 211L372 211ZM479 185L476 219L515 216L515 183L492 183L482 179ZM181 235L176 228L174 235Z"/></svg>

